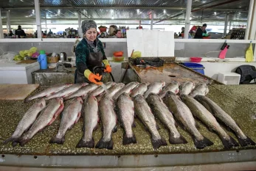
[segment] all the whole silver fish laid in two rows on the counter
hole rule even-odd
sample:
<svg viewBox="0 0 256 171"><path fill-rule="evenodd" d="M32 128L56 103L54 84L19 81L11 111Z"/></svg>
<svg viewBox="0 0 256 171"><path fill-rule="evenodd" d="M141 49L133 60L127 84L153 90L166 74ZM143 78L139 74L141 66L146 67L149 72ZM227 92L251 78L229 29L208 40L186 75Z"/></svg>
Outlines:
<svg viewBox="0 0 256 171"><path fill-rule="evenodd" d="M132 127L135 126L134 114L136 113L136 116L150 132L151 142L155 149L167 145L165 139L158 132L159 126L155 117L169 131L170 144L187 143L187 140L179 134L176 128L177 121L192 135L196 148L213 145L196 128L196 121L194 120L194 117L196 117L210 130L218 134L224 148L229 149L238 146L235 139L226 134L224 129L221 128L215 119L216 117L235 131L242 146L255 145L252 139L243 134L241 128L238 127L229 114L226 114L216 103L204 96L209 92L206 84L197 84L195 88L193 82L184 82L181 86L176 81L166 85L164 81L157 81L149 86L148 83L131 82L125 85L108 82L105 84L108 90L95 84L79 84L80 88L71 93L70 87L73 86L77 87L78 85L66 84L66 88L62 87L62 90L60 90L60 85L54 88L49 87L46 89L48 91L44 90L27 98L27 101L31 101L35 98L50 97L58 93L63 95L63 90L68 89L69 93L65 94L65 97L60 97L64 99L72 98L72 101L63 109L63 99L58 95L55 95L55 98L47 106L45 99L41 98L24 114L12 137L4 143L13 142L13 146L17 143L20 143L21 146L25 145L38 131L46 125L50 125L63 110L58 134L52 137L51 143L63 144L66 131L77 123L80 115L83 115L83 137L78 142L77 148L94 148L92 133L97 128L99 120L101 120L103 137L97 142L95 148L113 149L112 133L117 131L117 117L124 129L122 144L136 143L136 137L132 130ZM180 91L179 87L181 88ZM177 93L179 93L181 99L176 95ZM97 98L95 98L96 96ZM196 100L193 97L196 97ZM100 101L99 104L98 101ZM83 112L81 112L82 108ZM39 112L41 114L36 118ZM30 125L32 125L31 128ZM21 136L23 133L24 135Z"/></svg>

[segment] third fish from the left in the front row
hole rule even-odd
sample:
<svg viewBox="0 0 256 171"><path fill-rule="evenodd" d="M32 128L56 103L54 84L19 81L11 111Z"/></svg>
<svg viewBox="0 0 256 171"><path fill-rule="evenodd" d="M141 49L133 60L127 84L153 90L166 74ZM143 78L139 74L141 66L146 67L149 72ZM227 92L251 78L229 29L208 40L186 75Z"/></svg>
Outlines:
<svg viewBox="0 0 256 171"><path fill-rule="evenodd" d="M52 137L49 143L63 145L65 142L66 131L71 130L81 116L82 106L83 100L80 97L73 98L72 101L69 102L69 105L63 109L58 133L55 135L55 137Z"/></svg>

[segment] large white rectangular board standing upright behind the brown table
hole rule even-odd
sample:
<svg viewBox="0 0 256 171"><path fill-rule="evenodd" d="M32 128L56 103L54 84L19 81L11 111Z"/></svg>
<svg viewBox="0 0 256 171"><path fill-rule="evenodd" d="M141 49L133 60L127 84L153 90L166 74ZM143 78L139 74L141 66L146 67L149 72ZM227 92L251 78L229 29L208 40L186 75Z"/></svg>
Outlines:
<svg viewBox="0 0 256 171"><path fill-rule="evenodd" d="M128 55L141 51L142 57L174 57L174 32L158 30L128 30Z"/></svg>

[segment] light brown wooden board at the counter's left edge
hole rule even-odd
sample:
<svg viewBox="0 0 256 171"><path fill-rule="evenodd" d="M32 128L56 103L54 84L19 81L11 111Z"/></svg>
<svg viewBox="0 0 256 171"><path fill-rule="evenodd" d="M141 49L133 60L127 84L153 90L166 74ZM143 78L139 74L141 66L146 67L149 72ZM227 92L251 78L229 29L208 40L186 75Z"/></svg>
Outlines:
<svg viewBox="0 0 256 171"><path fill-rule="evenodd" d="M0 84L0 100L24 100L39 84Z"/></svg>

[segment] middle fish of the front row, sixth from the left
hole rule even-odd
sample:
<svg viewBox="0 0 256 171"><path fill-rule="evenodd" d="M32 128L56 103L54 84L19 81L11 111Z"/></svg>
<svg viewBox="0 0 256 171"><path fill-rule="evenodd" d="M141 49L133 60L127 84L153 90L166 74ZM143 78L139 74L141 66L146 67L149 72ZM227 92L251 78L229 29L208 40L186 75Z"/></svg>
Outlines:
<svg viewBox="0 0 256 171"><path fill-rule="evenodd" d="M134 101L131 100L131 97L126 92L123 92L117 98L117 116L124 129L122 145L136 144L136 137L132 130L132 127L135 127Z"/></svg>

